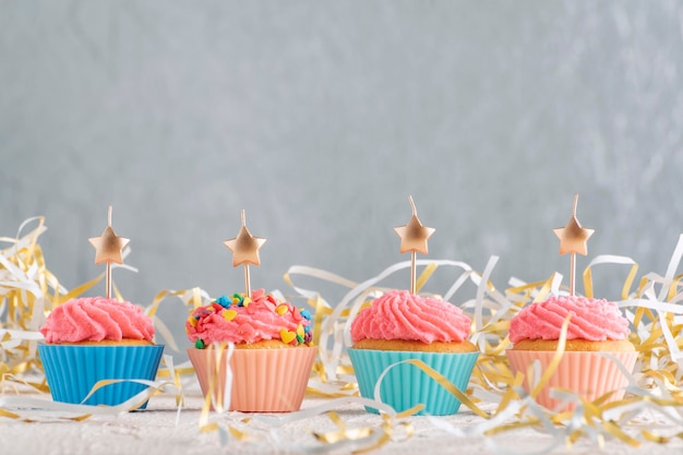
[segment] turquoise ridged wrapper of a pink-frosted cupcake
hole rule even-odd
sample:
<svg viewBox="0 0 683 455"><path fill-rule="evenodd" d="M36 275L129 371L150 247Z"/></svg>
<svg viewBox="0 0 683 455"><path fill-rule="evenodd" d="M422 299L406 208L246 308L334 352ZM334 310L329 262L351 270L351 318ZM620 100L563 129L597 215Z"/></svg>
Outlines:
<svg viewBox="0 0 683 455"><path fill-rule="evenodd" d="M479 357L479 352L447 354L371 349L349 349L348 351L360 394L371 399L374 399L375 384L384 370L404 360L421 360L465 393ZM423 404L424 408L418 415L446 416L456 414L460 407L460 402L455 396L418 367L409 363L397 364L386 373L380 387L380 397L382 403L392 406L397 412ZM378 412L371 407L366 407L366 409L370 412Z"/></svg>

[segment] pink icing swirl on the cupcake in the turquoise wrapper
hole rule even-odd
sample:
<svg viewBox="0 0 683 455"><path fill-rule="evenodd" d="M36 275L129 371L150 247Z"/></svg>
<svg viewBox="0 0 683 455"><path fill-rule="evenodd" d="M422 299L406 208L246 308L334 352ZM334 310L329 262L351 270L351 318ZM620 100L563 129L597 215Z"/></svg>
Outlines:
<svg viewBox="0 0 683 455"><path fill-rule="evenodd" d="M378 297L351 323L351 339L464 342L470 319L456 306L431 297L393 290Z"/></svg>

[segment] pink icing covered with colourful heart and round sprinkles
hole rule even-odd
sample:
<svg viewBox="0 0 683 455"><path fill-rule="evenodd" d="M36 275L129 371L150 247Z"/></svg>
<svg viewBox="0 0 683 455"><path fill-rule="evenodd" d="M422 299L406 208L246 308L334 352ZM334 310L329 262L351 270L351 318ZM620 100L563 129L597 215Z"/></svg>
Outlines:
<svg viewBox="0 0 683 455"><path fill-rule="evenodd" d="M285 307L279 309L281 314L278 307ZM301 330L307 330L304 336L308 343L309 323L310 321L301 315L301 310L259 289L252 291L251 301L244 306L223 307L218 301L214 301L194 309L185 322L185 332L191 342L201 339L205 345L215 342L241 344L281 339L281 330L296 333L301 326ZM300 343L302 342L297 338L291 342Z"/></svg>

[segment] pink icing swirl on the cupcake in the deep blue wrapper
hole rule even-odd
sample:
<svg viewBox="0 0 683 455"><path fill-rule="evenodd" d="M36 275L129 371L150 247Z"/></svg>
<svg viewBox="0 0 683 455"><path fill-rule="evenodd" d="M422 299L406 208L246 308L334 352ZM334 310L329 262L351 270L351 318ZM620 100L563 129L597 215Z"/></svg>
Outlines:
<svg viewBox="0 0 683 455"><path fill-rule="evenodd" d="M57 307L40 327L47 343L120 342L154 337L152 320L131 302L82 297Z"/></svg>

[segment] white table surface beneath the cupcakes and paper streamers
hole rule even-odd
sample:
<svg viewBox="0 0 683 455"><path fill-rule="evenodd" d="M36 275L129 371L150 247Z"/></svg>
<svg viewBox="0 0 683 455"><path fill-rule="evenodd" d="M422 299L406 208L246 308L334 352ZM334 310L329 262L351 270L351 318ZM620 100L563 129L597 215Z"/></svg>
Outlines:
<svg viewBox="0 0 683 455"><path fill-rule="evenodd" d="M26 396L36 397L37 394ZM48 396L41 396L49 399ZM310 408L326 398L307 397L302 408ZM25 422L0 418L0 446L3 455L31 454L125 454L125 455L194 455L194 454L288 454L288 453L349 453L351 447L329 451L315 440L312 432L331 432L337 429L323 415L310 417L283 427L275 427L254 419L242 422L240 412L212 414L211 421L224 428L227 424L247 432L249 440L229 439L221 443L216 431L200 433L199 421L203 399L197 393L185 396L185 407L179 418L172 395L154 396L147 410L121 412L116 416L93 416L83 421L52 419L51 421ZM483 405L486 410L493 405ZM337 408L338 416L347 428L378 428L382 418L368 414L358 404L346 404ZM45 417L49 412L43 414ZM284 415L273 415L284 416ZM647 420L647 416L640 417ZM482 419L463 407L455 416L441 417L441 421L455 427L468 427L480 423ZM373 454L416 454L428 455L467 453L467 454L683 454L683 440L672 440L668 444L643 443L632 447L615 440L609 440L603 447L583 439L574 446L555 445L548 450L552 438L534 429L523 429L504 435L456 436L440 429L433 420L426 417L405 419L414 428L414 434L406 438L404 427L395 427L395 439L371 453ZM681 431L681 429L678 429Z"/></svg>

